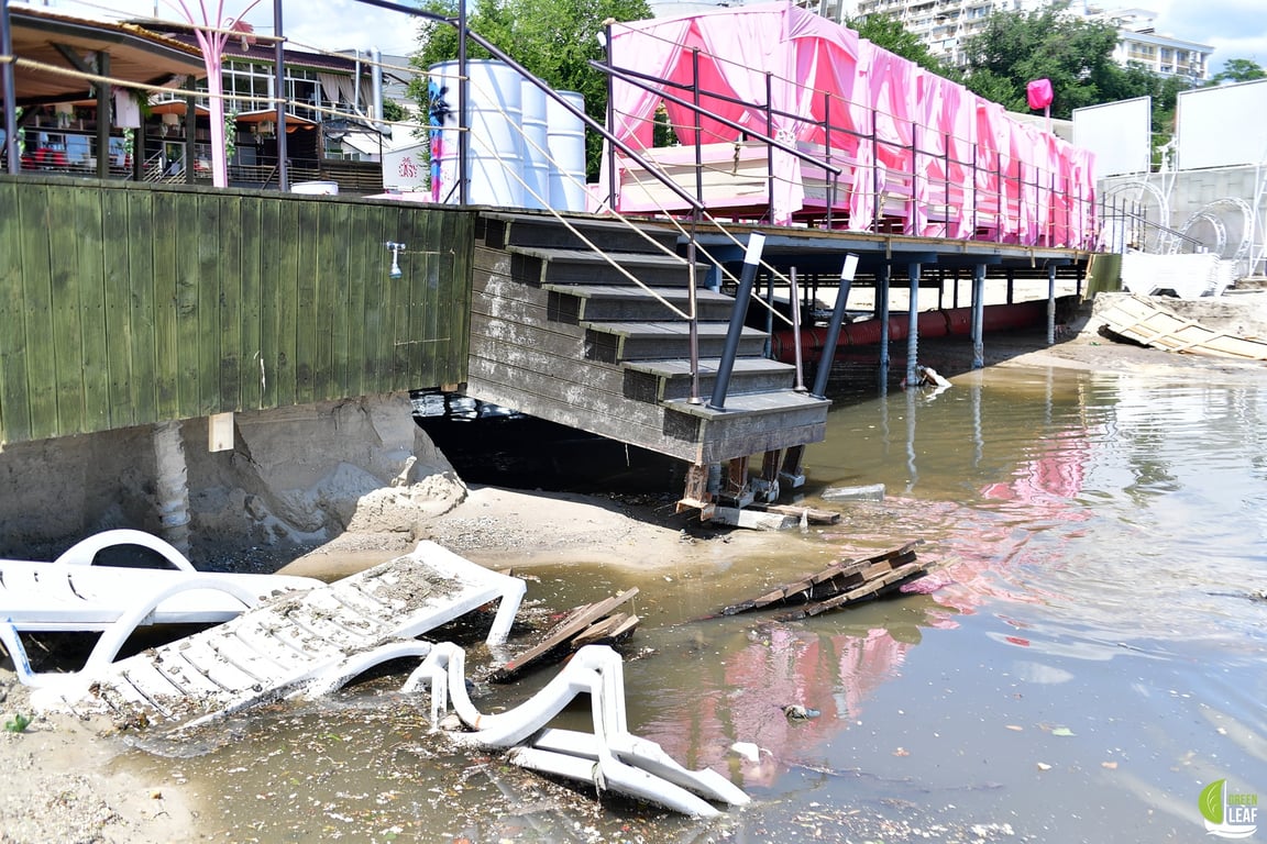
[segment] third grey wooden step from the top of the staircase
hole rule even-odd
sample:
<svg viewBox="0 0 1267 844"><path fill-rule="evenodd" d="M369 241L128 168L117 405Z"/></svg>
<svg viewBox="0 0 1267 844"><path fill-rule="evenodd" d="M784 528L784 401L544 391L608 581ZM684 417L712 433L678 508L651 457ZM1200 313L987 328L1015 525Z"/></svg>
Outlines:
<svg viewBox="0 0 1267 844"><path fill-rule="evenodd" d="M691 296L685 287L653 287L635 285L544 285L550 291L550 319L569 325L582 321L642 321L674 319L677 315L656 299L666 300L683 313L689 313ZM696 292L696 310L703 320L729 320L735 297L711 290Z"/></svg>

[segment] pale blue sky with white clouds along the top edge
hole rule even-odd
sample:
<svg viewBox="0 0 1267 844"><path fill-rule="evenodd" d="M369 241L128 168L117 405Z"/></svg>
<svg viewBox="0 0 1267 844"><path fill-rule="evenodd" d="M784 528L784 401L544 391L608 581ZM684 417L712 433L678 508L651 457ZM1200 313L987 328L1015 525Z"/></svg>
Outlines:
<svg viewBox="0 0 1267 844"><path fill-rule="evenodd" d="M237 16L250 0L205 0L210 9L223 3L224 16ZM409 0L399 0L408 5ZM759 1L759 0L749 0ZM198 0L185 0L195 14ZM85 16L158 16L177 19L169 0L34 0L66 14ZM654 0L661 11L672 10L673 0ZM694 0L683 6L698 6ZM1095 5L1114 4L1100 0ZM1248 58L1267 67L1267 15L1263 0L1124 0L1120 5L1150 9L1158 14L1157 34L1209 44L1215 48L1211 68L1216 71L1229 58ZM258 32L272 32L272 0L260 3L246 15ZM283 3L283 29L296 48L370 49L385 54L408 54L416 44L417 24L399 13L356 3L356 0L289 0Z"/></svg>

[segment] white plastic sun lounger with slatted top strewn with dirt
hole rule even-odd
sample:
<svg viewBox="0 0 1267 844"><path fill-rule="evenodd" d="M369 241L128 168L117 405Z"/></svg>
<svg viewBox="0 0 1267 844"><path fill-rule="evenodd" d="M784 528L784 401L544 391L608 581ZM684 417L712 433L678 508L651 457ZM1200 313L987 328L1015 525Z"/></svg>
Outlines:
<svg viewBox="0 0 1267 844"><path fill-rule="evenodd" d="M523 581L433 542L328 586L283 595L224 624L46 682L46 710L109 710L195 725L307 688L333 691L389 659L422 657L414 640L499 601L488 643L509 634ZM113 655L113 654L111 654Z"/></svg>

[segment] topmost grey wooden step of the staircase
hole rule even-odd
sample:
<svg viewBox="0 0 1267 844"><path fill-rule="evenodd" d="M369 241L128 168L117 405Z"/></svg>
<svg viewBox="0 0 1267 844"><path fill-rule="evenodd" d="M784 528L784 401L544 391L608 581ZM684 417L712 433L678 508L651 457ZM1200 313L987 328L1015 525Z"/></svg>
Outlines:
<svg viewBox="0 0 1267 844"><path fill-rule="evenodd" d="M645 252L660 253L660 249L640 233L646 233L655 243L670 252L678 251L678 230L672 227L630 225L611 218L578 218L568 215L571 229L551 214L512 214L504 211L485 211L484 239L489 247L544 247L547 249L589 249L589 245L571 229L584 235L590 243L606 252Z"/></svg>

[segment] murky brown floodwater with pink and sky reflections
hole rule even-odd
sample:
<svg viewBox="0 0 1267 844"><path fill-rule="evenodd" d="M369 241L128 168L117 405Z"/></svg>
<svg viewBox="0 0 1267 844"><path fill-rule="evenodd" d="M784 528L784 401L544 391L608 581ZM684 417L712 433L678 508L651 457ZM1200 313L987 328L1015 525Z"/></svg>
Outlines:
<svg viewBox="0 0 1267 844"><path fill-rule="evenodd" d="M128 762L188 781L209 840L1213 840L1209 783L1267 798L1267 382L1192 376L993 368L940 394L844 396L805 497L840 525L760 559L701 539L717 544L704 566L533 567L542 606L641 590L630 726L744 786L753 805L721 819L597 802L455 749L390 680ZM883 501L818 497L870 483ZM908 539L945 563L931 593L698 620ZM476 704L550 676L476 686Z"/></svg>

